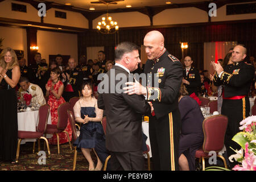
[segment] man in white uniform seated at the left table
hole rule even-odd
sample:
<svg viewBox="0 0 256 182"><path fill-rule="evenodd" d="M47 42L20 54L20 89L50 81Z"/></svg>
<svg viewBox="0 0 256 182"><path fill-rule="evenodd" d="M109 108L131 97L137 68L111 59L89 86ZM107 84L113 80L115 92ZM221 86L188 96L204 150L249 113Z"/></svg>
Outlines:
<svg viewBox="0 0 256 182"><path fill-rule="evenodd" d="M19 92L31 94L32 100L38 100L40 105L46 104L46 99L40 86L36 84L31 84L27 77L21 77L19 79Z"/></svg>

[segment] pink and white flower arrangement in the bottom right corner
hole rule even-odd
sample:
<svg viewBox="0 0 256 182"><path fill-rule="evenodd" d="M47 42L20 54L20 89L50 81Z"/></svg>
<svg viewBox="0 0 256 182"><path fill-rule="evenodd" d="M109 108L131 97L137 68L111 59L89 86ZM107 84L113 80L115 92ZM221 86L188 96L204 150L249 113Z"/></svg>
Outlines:
<svg viewBox="0 0 256 182"><path fill-rule="evenodd" d="M242 125L239 129L243 130L234 135L232 140L240 144L241 150L233 150L237 153L229 157L230 162L233 158L242 163L241 165L234 166L235 171L256 171L256 115L247 117L240 122ZM244 156L243 156L243 150Z"/></svg>

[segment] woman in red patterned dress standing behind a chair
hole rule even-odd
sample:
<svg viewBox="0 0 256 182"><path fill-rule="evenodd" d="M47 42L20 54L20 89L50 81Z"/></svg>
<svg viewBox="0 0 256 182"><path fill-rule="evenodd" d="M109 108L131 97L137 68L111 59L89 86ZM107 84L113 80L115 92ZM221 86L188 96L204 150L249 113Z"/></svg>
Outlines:
<svg viewBox="0 0 256 182"><path fill-rule="evenodd" d="M59 67L53 68L51 71L51 78L46 84L46 96L49 96L47 104L50 106L51 110L52 125L57 125L58 107L65 102L62 97L64 85L63 82L60 81L60 74L61 71ZM72 140L72 129L69 121L65 131L68 131L69 138ZM59 139L60 144L68 142L68 137L65 133L60 133ZM49 144L57 144L57 136L55 134L49 139Z"/></svg>

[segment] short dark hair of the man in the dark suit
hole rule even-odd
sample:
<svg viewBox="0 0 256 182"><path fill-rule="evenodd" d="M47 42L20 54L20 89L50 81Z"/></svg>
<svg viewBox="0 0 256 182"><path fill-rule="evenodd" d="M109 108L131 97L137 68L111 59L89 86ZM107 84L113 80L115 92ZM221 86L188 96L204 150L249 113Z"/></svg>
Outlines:
<svg viewBox="0 0 256 182"><path fill-rule="evenodd" d="M129 53L139 49L141 48L134 43L122 42L118 44L117 48L115 49L115 60L121 60L125 53Z"/></svg>

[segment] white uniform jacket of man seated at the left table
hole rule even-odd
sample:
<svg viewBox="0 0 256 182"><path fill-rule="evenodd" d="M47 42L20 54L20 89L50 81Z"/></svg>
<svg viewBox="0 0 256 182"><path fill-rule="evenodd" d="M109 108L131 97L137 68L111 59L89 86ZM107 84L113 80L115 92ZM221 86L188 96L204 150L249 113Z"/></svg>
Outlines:
<svg viewBox="0 0 256 182"><path fill-rule="evenodd" d="M19 92L20 93L28 93L31 94L32 96L32 100L38 100L38 102L40 103L40 105L44 105L46 104L46 99L44 98L44 94L42 89L40 88L40 86L36 85L36 84L31 84L28 87L27 90L23 90L21 87L19 88Z"/></svg>

